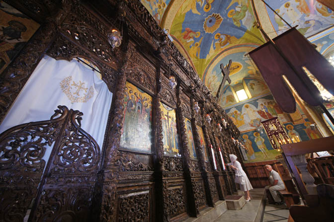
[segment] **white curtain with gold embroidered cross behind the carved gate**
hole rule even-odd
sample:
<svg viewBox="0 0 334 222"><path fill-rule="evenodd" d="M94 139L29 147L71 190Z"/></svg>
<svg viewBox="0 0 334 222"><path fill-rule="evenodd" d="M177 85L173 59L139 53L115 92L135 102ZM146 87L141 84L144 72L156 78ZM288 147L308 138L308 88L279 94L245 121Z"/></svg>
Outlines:
<svg viewBox="0 0 334 222"><path fill-rule="evenodd" d="M83 112L82 128L101 148L112 93L95 73L76 60L45 56L4 118L0 133L19 124L49 120L58 105L65 105Z"/></svg>

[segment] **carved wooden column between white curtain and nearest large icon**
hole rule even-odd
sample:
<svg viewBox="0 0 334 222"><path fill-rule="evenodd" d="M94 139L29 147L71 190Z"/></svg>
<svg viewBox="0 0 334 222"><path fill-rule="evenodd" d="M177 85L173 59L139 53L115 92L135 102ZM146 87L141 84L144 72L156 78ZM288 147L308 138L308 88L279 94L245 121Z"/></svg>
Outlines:
<svg viewBox="0 0 334 222"><path fill-rule="evenodd" d="M119 168L115 166L118 159L118 146L121 138L121 129L123 127L124 111L124 88L126 84L126 68L129 65L128 59L132 54L128 50L127 61L119 72L116 93L111 113L111 123L107 133L107 142L103 150L102 169L98 172L97 183L95 186L94 207L92 221L110 222L116 216L116 185Z"/></svg>

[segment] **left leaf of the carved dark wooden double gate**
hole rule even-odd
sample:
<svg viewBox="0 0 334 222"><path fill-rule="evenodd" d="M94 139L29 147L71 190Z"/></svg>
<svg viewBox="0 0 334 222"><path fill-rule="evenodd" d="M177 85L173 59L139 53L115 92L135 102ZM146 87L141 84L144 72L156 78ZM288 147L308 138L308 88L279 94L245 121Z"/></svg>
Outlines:
<svg viewBox="0 0 334 222"><path fill-rule="evenodd" d="M65 116L11 128L0 135L0 220L23 221L36 196L48 146L59 136Z"/></svg>

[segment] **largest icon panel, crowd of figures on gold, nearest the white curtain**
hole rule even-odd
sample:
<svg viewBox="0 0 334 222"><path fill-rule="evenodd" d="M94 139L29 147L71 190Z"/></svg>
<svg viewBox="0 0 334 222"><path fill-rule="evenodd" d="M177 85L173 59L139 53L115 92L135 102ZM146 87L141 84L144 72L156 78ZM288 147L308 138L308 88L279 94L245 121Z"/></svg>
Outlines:
<svg viewBox="0 0 334 222"><path fill-rule="evenodd" d="M130 82L126 82L120 147L151 153L151 123L152 97Z"/></svg>

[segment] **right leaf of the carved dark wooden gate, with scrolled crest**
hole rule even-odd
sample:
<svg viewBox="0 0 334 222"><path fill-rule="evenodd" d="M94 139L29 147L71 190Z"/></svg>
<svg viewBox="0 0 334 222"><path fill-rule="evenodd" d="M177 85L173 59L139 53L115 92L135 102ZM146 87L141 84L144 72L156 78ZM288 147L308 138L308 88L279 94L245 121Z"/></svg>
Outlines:
<svg viewBox="0 0 334 222"><path fill-rule="evenodd" d="M81 129L83 113L68 110L65 106L58 108L56 114L64 116L65 125L60 126L62 131L57 135L51 161L45 169L46 177L41 182L29 220L37 222L71 218L87 221L100 148Z"/></svg>

